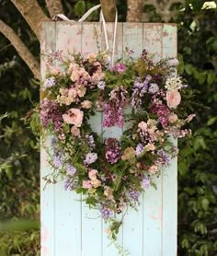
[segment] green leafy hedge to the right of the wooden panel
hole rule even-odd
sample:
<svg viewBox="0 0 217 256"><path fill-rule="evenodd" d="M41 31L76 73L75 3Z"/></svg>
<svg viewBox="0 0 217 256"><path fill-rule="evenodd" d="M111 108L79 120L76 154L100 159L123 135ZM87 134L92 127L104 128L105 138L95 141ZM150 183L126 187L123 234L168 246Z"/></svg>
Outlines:
<svg viewBox="0 0 217 256"><path fill-rule="evenodd" d="M177 20L179 73L199 93L193 134L179 142L178 255L210 256L217 254L216 9L190 2Z"/></svg>

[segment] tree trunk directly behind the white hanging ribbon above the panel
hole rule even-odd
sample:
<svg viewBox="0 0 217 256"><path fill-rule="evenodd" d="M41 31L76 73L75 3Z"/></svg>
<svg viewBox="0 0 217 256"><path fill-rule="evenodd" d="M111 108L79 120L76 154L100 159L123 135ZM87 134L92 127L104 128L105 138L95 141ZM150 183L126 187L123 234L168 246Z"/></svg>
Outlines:
<svg viewBox="0 0 217 256"><path fill-rule="evenodd" d="M102 12L105 20L108 22L114 22L116 15L116 3L115 0L100 0L102 6Z"/></svg>

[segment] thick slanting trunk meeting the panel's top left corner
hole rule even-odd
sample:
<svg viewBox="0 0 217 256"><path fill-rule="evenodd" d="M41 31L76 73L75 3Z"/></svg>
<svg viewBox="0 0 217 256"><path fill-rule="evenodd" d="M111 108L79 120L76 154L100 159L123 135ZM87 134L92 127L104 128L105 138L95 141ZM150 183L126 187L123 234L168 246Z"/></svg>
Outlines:
<svg viewBox="0 0 217 256"><path fill-rule="evenodd" d="M40 25L43 21L50 20L50 18L43 13L36 0L11 0L11 2L27 20L30 28L40 41Z"/></svg>

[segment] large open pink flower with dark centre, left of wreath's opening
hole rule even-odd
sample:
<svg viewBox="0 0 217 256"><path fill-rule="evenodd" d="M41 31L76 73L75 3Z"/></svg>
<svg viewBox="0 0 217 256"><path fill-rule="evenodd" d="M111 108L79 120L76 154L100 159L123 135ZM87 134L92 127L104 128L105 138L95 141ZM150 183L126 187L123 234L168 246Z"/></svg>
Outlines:
<svg viewBox="0 0 217 256"><path fill-rule="evenodd" d="M84 112L78 109L70 109L63 114L63 121L80 127L83 122Z"/></svg>

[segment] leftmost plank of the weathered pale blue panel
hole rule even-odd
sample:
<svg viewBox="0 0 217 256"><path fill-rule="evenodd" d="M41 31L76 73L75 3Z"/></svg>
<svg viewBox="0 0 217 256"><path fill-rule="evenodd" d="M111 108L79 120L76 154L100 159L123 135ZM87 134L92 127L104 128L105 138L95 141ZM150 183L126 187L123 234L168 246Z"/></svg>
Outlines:
<svg viewBox="0 0 217 256"><path fill-rule="evenodd" d="M43 23L41 33L40 52L47 54L50 50L55 50L55 23ZM46 65L44 57L41 55L41 76L46 73ZM47 141L49 143L49 140ZM40 243L41 256L53 256L54 254L54 239L55 239L55 215L54 215L54 187L48 185L46 189L45 180L42 178L51 173L51 167L48 164L47 154L44 148L40 149Z"/></svg>

